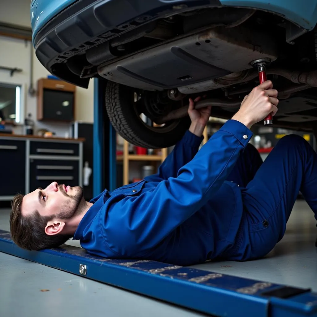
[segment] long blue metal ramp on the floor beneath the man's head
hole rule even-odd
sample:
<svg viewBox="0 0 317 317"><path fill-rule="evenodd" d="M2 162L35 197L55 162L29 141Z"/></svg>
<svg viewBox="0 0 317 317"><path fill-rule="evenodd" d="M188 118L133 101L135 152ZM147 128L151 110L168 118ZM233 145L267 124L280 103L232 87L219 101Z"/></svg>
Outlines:
<svg viewBox="0 0 317 317"><path fill-rule="evenodd" d="M105 259L69 245L28 251L3 230L0 251L213 316L317 316L317 293L310 289L150 260Z"/></svg>

